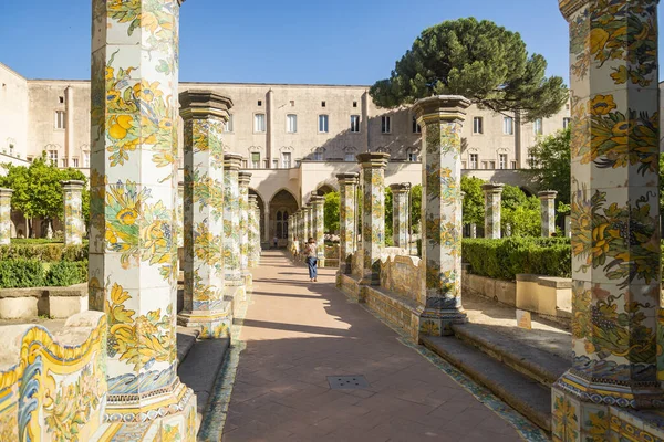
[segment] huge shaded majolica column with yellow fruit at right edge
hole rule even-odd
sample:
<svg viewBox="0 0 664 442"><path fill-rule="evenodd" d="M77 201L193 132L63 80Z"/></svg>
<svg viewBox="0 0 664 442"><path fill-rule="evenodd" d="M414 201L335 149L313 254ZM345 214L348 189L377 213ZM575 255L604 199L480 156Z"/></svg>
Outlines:
<svg viewBox="0 0 664 442"><path fill-rule="evenodd" d="M559 441L661 438L630 412L664 406L657 3L560 2L571 41L574 315L572 368L552 390Z"/></svg>

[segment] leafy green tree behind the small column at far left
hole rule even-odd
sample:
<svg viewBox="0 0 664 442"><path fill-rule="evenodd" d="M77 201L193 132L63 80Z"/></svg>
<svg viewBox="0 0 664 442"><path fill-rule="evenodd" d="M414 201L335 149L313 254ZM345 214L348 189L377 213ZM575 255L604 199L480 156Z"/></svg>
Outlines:
<svg viewBox="0 0 664 442"><path fill-rule="evenodd" d="M87 178L76 169L59 169L49 161L45 152L34 159L30 167L2 165L6 177L0 177L0 186L13 189L11 207L19 210L30 221L33 218L53 220L62 219L64 201L61 181L80 180L87 183ZM90 191L83 190L83 215L90 219ZM32 230L32 223L29 222ZM31 233L31 232L30 232Z"/></svg>

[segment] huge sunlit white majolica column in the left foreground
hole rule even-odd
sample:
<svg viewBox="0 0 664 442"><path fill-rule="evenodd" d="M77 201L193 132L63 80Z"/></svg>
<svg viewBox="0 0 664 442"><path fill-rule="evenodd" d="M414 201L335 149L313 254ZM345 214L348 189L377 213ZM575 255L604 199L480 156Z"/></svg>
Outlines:
<svg viewBox="0 0 664 442"><path fill-rule="evenodd" d="M108 318L105 421L194 441L176 371L179 3L92 2L89 284Z"/></svg>

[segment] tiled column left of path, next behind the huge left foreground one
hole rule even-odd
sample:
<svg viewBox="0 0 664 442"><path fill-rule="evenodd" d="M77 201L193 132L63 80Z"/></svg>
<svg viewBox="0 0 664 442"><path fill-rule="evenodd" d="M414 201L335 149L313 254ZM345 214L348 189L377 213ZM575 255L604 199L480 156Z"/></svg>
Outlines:
<svg viewBox="0 0 664 442"><path fill-rule="evenodd" d="M185 305L178 323L203 338L228 337L232 306L224 298L224 124L230 98L211 91L179 95L184 120Z"/></svg>

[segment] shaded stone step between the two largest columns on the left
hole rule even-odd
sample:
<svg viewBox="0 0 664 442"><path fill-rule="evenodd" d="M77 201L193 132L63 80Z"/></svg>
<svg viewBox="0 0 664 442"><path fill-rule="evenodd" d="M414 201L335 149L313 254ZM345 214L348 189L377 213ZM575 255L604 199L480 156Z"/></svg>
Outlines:
<svg viewBox="0 0 664 442"><path fill-rule="evenodd" d="M199 422L203 422L212 396L217 375L221 370L230 339L196 340L183 364L177 368L180 380L196 393Z"/></svg>

